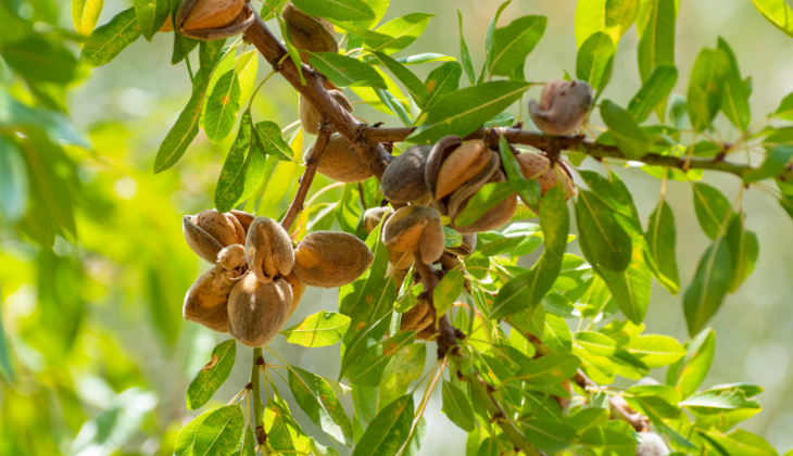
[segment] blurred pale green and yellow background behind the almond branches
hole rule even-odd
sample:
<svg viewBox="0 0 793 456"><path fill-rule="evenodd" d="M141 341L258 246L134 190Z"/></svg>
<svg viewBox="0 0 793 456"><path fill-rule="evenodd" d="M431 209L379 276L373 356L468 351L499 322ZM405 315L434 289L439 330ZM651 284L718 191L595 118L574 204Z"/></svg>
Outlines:
<svg viewBox="0 0 793 456"><path fill-rule="evenodd" d="M498 4L399 0L392 2L383 21L417 11L436 13L427 31L398 55L438 52L458 58L458 9L474 65L479 68L484 31ZM105 1L99 24L130 5L130 1ZM504 11L500 25L525 14L549 17L544 37L527 60L529 80L558 78L565 69L575 72L575 0L514 0ZM67 1L54 0L51 10L61 27L72 28ZM277 27L272 28L277 34ZM793 40L768 24L748 0L681 2L676 48L680 78L675 92L685 94L696 54L703 47L715 47L718 36L734 49L743 75L753 77L753 121L763 118L793 91ZM0 215L2 324L15 373L12 384L0 388L2 454L169 455L178 430L197 415L186 410L184 393L212 347L225 337L181 320L184 293L209 265L184 242L180 219L213 206L216 179L232 136L213 145L200 134L179 164L153 175L158 147L190 94L185 65L171 65L172 41L171 34L158 34L151 43L139 39L110 65L92 69L66 97L74 123L92 144L91 150L65 149L77 177L77 238L58 237L53 251L48 252ZM620 41L604 94L624 105L641 85L637 45L631 28ZM436 65L411 69L424 78ZM259 80L268 72L260 60ZM461 83L467 85L465 76ZM534 89L527 97L537 93ZM517 114L518 106L509 111ZM365 105L356 105L355 114L370 123L399 125L395 117ZM272 78L253 102L253 118L274 121L281 127L294 122L297 93L280 78ZM599 122L596 115L593 118ZM717 125L723 137L735 137L726 122ZM303 148L313 139L306 136ZM279 166L277 175L291 187L288 191L285 186L268 187L265 198L278 204L260 215L279 216L297 188L300 168L286 163ZM602 170L593 161L583 166ZM616 170L646 220L657 203L659 181L640 169ZM730 200L740 188L734 177L706 175L705 180ZM312 193L328 183L318 178ZM325 201L339 194L338 189L331 190ZM670 182L667 198L678 223L677 253L684 289L708 239L696 221L690 186ZM252 211L251 205L247 208ZM793 447L793 221L769 194L757 189L745 193L744 210L747 227L759 237L759 261L754 274L738 293L727 297L712 320L716 357L703 388L739 381L764 385L766 392L759 396L764 409L743 427L785 452ZM575 242L570 251L578 253ZM336 309L337 296L337 290L310 289L288 326L322 308ZM77 322L70 327L75 333L67 339L73 342L64 346L59 339L63 334L48 331L71 325L70 318ZM55 324L42 325L47 319ZM654 284L645 322L649 332L685 341L681 295L671 296ZM282 338L269 346L307 370L331 378L338 375L338 346L306 350L289 345ZM210 406L225 404L247 382L250 350L239 349L231 377ZM653 375L663 379L663 371ZM288 389L281 392L291 400ZM440 393L436 393L426 414L428 438L421 454L463 454L465 434L442 416ZM349 397L345 401L350 405ZM291 405L306 432L328 444L299 407Z"/></svg>

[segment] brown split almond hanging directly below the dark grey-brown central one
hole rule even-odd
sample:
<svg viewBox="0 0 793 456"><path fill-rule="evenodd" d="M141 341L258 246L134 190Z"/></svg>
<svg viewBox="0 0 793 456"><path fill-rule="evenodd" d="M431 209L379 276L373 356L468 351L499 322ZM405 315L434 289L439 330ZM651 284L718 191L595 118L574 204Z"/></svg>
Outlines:
<svg viewBox="0 0 793 456"><path fill-rule="evenodd" d="M443 254L441 217L427 206L401 207L386 220L382 242L394 252L419 252L421 262L431 265Z"/></svg>

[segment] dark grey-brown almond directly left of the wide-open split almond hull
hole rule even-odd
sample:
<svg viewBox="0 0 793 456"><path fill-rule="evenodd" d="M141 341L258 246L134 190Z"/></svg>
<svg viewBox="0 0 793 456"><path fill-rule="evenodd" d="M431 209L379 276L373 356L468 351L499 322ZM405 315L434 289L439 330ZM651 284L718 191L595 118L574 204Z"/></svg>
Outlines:
<svg viewBox="0 0 793 456"><path fill-rule="evenodd" d="M407 204L429 193L424 179L430 145L412 145L391 162L382 173L382 194L395 204Z"/></svg>

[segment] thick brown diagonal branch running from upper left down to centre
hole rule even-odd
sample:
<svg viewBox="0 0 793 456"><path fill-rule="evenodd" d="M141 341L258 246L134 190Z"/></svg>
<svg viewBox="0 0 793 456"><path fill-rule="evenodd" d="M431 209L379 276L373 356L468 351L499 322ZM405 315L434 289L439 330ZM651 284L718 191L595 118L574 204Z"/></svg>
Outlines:
<svg viewBox="0 0 793 456"><path fill-rule="evenodd" d="M264 25L264 22L262 22L262 18L259 17L255 11L253 11L253 14L256 15L256 18L244 33L248 41L256 47L262 56L273 65L273 69L284 76L314 106L316 112L319 113L320 118L324 118L328 124L332 125L336 131L341 134L344 139L355 147L363 161L369 165L372 172L379 179L382 176L382 172L386 170L386 166L392 160L391 154L386 152L380 143L367 142L361 137L361 130L366 128L366 126L356 121L352 114L348 113L347 110L330 97L323 86L325 81L323 75L306 65L302 65L301 69L305 78L305 86L303 86L300 80L298 67L291 59L286 59L284 63L278 64L281 58L288 54L287 49L281 46L267 26Z"/></svg>

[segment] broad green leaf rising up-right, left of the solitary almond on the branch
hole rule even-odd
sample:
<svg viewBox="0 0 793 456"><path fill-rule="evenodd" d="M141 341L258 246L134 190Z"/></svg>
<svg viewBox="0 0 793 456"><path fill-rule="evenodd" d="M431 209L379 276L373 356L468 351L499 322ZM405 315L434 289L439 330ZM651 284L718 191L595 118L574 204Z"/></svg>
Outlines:
<svg viewBox="0 0 793 456"><path fill-rule="evenodd" d="M513 69L523 67L526 58L542 38L545 25L545 16L523 16L506 27L496 28L489 59L490 74L508 76Z"/></svg>

